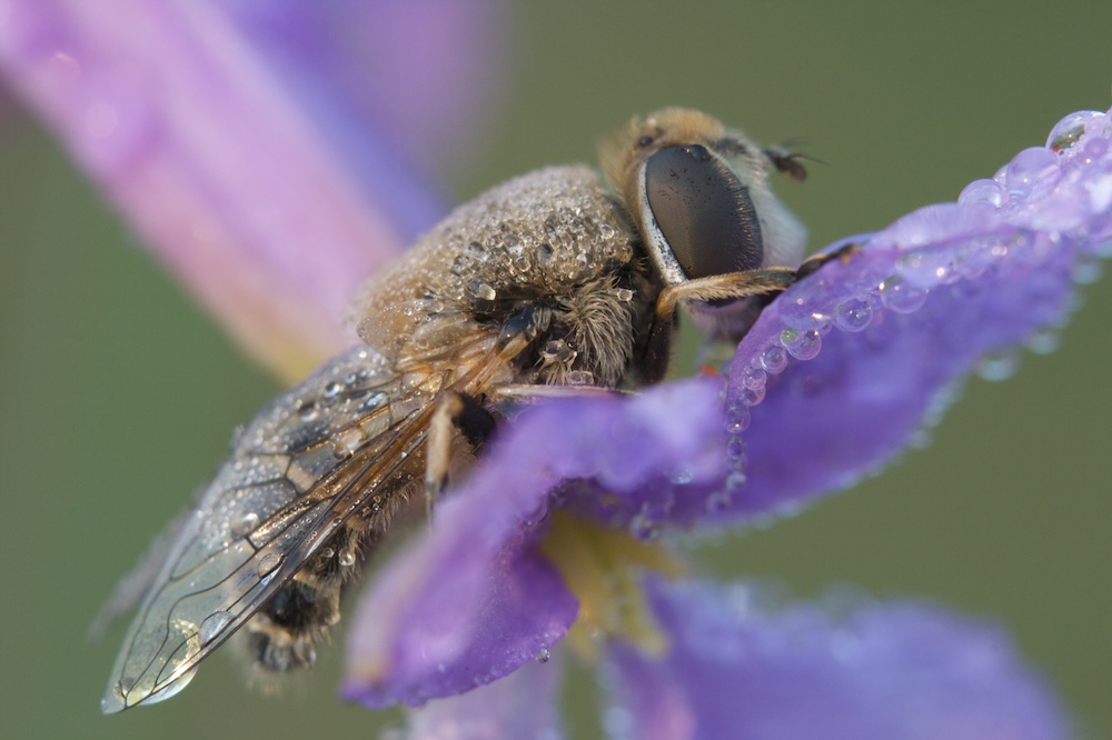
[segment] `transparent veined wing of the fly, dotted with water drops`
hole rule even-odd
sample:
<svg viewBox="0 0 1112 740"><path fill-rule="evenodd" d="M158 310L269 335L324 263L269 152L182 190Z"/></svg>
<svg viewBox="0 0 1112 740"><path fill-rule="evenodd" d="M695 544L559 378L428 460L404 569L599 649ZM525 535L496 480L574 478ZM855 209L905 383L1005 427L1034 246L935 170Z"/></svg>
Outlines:
<svg viewBox="0 0 1112 740"><path fill-rule="evenodd" d="M416 380L416 381L415 381ZM101 700L167 699L424 441L440 381L348 351L266 407L158 550Z"/></svg>

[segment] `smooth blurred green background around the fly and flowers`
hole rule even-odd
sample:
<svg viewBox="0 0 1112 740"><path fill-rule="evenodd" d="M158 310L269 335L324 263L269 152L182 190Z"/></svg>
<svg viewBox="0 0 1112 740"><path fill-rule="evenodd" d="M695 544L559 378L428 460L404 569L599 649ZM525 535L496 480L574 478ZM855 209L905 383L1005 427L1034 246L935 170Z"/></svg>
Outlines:
<svg viewBox="0 0 1112 740"><path fill-rule="evenodd" d="M1112 102L1112 3L529 3L507 83L459 199L593 161L599 134L664 104L827 164L780 192L812 246L883 227L991 177L1062 116ZM137 248L24 117L0 129L0 730L8 738L374 737L336 696L340 646L275 701L219 656L170 702L102 718L121 628L86 629L117 578L188 501L230 430L277 390ZM1009 626L1075 713L1112 736L1105 464L1112 284L1049 357L974 380L925 450L768 530L708 547L708 570L800 596L853 583ZM801 454L804 453L801 451ZM574 702L592 707L587 674ZM578 699L584 699L578 701ZM576 718L576 737L593 720Z"/></svg>

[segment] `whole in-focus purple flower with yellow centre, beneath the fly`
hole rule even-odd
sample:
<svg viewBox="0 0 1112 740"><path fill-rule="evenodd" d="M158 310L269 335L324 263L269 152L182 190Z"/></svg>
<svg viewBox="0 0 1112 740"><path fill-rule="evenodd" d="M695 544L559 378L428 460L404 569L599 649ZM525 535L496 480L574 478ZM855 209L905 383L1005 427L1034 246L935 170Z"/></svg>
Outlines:
<svg viewBox="0 0 1112 740"><path fill-rule="evenodd" d="M345 694L373 707L459 694L547 660L578 618L608 654L616 737L1064 734L987 628L916 606L835 618L628 572L666 569L639 541L851 486L936 423L972 370L1002 378L1016 348L1052 346L1112 237L1110 138L1108 114L1075 113L957 203L852 240L764 311L725 387L522 412L364 597ZM524 721L523 691L434 702L428 721L499 699L499 716Z"/></svg>

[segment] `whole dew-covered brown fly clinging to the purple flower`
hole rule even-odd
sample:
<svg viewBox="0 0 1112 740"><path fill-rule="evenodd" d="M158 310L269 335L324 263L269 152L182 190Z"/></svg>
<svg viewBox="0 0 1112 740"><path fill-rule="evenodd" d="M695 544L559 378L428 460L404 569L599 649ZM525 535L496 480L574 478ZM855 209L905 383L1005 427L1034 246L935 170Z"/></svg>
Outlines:
<svg viewBox="0 0 1112 740"><path fill-rule="evenodd" d="M118 587L108 617L138 609L101 710L173 696L236 632L262 671L310 667L358 566L499 409L661 380L681 303L739 339L815 264L790 267L805 232L767 182L798 160L666 109L604 143L605 180L554 167L456 209L357 297L363 343L264 408Z"/></svg>

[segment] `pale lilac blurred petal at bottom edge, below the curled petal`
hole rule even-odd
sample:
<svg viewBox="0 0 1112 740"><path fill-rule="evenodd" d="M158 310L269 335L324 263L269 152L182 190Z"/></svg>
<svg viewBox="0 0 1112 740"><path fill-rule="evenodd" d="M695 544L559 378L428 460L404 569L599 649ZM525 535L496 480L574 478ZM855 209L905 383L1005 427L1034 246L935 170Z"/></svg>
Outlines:
<svg viewBox="0 0 1112 740"><path fill-rule="evenodd" d="M564 737L564 728L559 716L562 671L557 654L547 663L524 666L490 686L410 710L406 737L414 740L559 740Z"/></svg>

